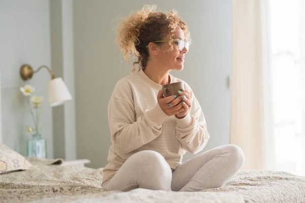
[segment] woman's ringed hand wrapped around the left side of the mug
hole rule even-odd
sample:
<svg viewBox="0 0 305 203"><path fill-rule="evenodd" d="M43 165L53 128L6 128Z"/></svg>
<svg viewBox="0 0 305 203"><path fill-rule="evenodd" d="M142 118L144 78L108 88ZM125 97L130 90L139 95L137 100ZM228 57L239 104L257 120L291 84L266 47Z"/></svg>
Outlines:
<svg viewBox="0 0 305 203"><path fill-rule="evenodd" d="M160 108L168 116L177 115L185 111L181 102L182 96L175 95L164 97L163 91L159 90L157 98Z"/></svg>

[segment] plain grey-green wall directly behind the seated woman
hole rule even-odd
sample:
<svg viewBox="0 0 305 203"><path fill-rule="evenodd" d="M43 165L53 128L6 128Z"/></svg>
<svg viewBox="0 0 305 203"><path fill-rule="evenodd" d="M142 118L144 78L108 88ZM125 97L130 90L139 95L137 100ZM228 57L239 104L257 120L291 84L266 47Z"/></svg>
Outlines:
<svg viewBox="0 0 305 203"><path fill-rule="evenodd" d="M89 167L107 164L111 145L107 105L115 83L129 74L114 28L120 18L151 1L74 1L77 158ZM185 69L172 74L193 89L207 120L210 140L204 150L229 144L231 1L154 1L157 10L174 8L189 26L193 45ZM184 159L193 155L187 154Z"/></svg>

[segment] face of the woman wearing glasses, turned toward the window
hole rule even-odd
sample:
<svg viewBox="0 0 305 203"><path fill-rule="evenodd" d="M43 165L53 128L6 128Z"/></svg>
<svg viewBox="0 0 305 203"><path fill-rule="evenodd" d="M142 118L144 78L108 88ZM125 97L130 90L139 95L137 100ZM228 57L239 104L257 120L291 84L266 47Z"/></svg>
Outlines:
<svg viewBox="0 0 305 203"><path fill-rule="evenodd" d="M185 41L184 32L179 26L176 26L175 28L173 40ZM184 58L185 54L188 53L188 50L186 47L184 47L184 49L180 51L177 44L178 43L174 43L172 51L168 51L171 46L167 42L163 43L162 46L160 46L161 49L158 52L158 59L162 66L166 67L167 70L181 71L184 68Z"/></svg>

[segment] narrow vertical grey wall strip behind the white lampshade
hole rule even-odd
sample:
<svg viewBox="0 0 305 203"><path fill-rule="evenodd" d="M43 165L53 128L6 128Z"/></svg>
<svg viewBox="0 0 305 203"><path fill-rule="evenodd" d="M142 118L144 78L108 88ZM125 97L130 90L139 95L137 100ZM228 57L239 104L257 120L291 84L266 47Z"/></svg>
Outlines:
<svg viewBox="0 0 305 203"><path fill-rule="evenodd" d="M53 108L54 158L76 159L73 1L50 1L51 63L56 77L62 77L73 100Z"/></svg>

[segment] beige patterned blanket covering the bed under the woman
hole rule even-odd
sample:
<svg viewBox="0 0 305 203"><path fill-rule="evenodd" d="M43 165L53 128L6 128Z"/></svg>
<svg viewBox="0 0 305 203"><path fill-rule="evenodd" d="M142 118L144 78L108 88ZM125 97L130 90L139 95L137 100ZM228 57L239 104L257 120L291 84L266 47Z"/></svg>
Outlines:
<svg viewBox="0 0 305 203"><path fill-rule="evenodd" d="M39 165L0 175L0 202L305 202L305 177L242 171L222 188L201 192L104 191L102 170Z"/></svg>

